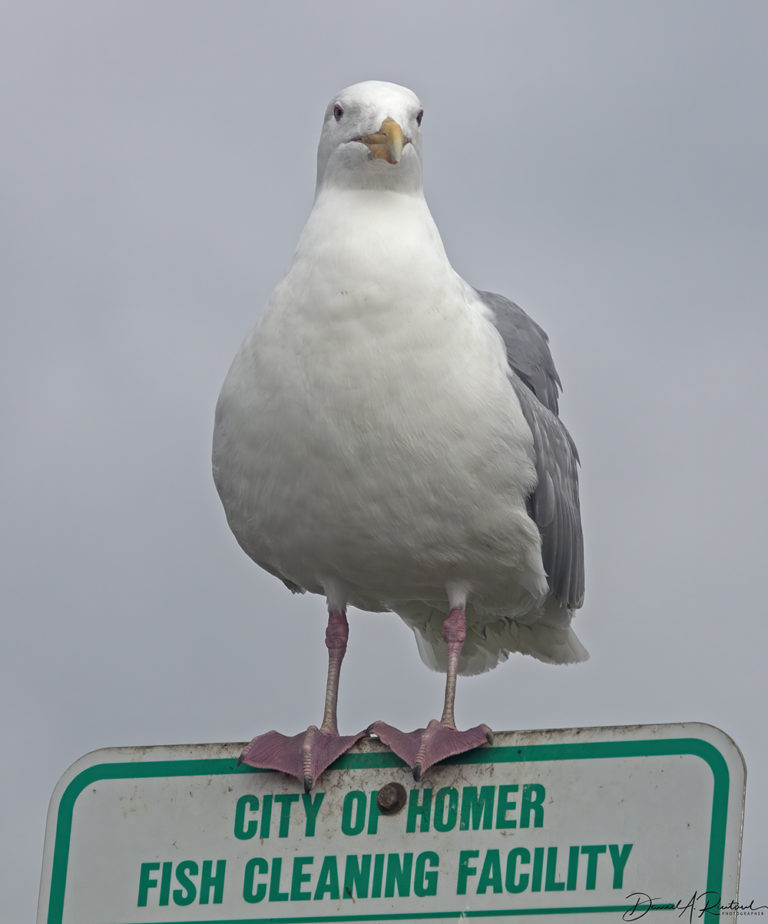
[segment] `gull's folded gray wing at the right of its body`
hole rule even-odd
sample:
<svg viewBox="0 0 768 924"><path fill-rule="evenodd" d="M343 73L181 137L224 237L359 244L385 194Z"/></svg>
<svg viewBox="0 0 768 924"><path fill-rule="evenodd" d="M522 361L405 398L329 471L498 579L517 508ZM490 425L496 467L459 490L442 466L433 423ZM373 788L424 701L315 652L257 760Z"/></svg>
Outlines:
<svg viewBox="0 0 768 924"><path fill-rule="evenodd" d="M522 308L493 292L478 292L507 350L510 381L533 434L537 484L529 513L541 533L549 586L569 609L584 599L584 540L579 508L579 454L557 416L560 378L547 335Z"/></svg>

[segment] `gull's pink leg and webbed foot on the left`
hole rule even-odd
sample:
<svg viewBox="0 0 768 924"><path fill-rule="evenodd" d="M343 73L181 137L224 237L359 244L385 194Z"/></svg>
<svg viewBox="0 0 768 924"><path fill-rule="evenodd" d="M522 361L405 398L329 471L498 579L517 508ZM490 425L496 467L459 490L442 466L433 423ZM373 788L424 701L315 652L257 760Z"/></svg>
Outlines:
<svg viewBox="0 0 768 924"><path fill-rule="evenodd" d="M318 728L310 725L298 735L281 735L270 731L258 735L245 747L240 762L262 770L280 770L295 776L309 792L323 770L365 735L340 735L336 720L339 698L339 672L347 651L349 624L343 610L330 610L325 630L328 649L328 680L325 686L323 723Z"/></svg>

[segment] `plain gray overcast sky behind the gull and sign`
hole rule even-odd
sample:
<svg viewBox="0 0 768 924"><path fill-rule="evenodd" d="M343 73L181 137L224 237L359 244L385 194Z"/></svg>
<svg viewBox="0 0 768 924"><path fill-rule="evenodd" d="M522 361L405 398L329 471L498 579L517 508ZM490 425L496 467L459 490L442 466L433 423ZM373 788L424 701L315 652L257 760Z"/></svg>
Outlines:
<svg viewBox="0 0 768 924"><path fill-rule="evenodd" d="M768 904L768 5L99 0L2 22L6 919L33 918L81 754L320 718L323 602L239 550L210 435L309 211L323 108L369 78L421 96L448 253L549 332L583 462L592 659L460 681L458 722L720 726L749 772L741 895ZM405 626L350 622L342 729L434 716Z"/></svg>

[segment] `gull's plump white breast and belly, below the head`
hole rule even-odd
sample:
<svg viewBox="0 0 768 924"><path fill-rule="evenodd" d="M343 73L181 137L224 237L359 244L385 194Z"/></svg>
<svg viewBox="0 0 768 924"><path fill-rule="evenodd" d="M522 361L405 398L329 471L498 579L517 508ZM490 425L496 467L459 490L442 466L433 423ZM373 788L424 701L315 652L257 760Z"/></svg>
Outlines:
<svg viewBox="0 0 768 924"><path fill-rule="evenodd" d="M546 593L532 438L501 340L420 197L321 196L219 398L214 471L248 554L365 609Z"/></svg>

